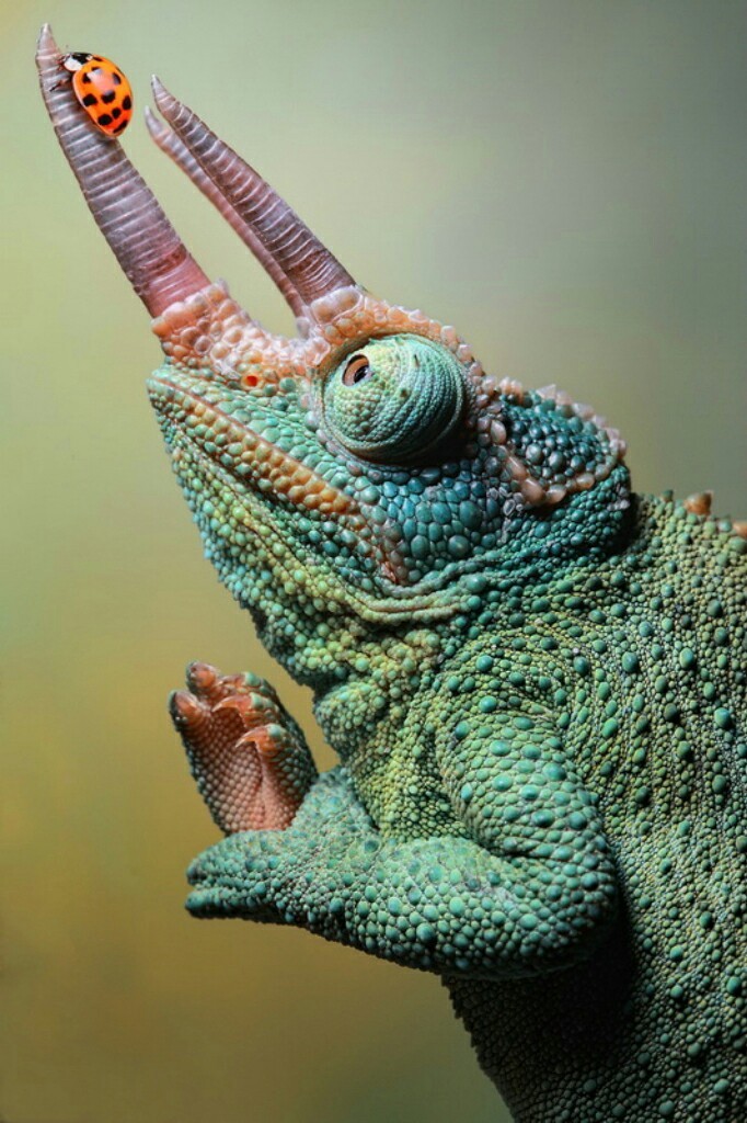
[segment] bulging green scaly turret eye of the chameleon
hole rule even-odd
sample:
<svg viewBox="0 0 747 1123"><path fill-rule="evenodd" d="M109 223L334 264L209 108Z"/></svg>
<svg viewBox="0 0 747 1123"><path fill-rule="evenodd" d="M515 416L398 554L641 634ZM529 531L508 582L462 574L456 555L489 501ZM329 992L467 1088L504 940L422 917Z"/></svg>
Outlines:
<svg viewBox="0 0 747 1123"><path fill-rule="evenodd" d="M326 423L366 460L407 464L433 454L464 407L461 364L419 336L376 339L349 356L324 387Z"/></svg>

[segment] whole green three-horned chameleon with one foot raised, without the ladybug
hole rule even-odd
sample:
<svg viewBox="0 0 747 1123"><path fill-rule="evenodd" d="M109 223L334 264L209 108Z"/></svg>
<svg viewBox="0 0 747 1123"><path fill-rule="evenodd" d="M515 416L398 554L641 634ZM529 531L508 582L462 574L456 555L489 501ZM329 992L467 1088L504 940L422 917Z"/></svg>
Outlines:
<svg viewBox="0 0 747 1123"><path fill-rule="evenodd" d="M747 1117L744 524L630 490L618 433L370 295L155 81L157 144L284 293L211 283L44 28L57 137L142 299L148 390L221 581L312 687L193 664L172 715L225 838L195 916L440 975L514 1116Z"/></svg>

